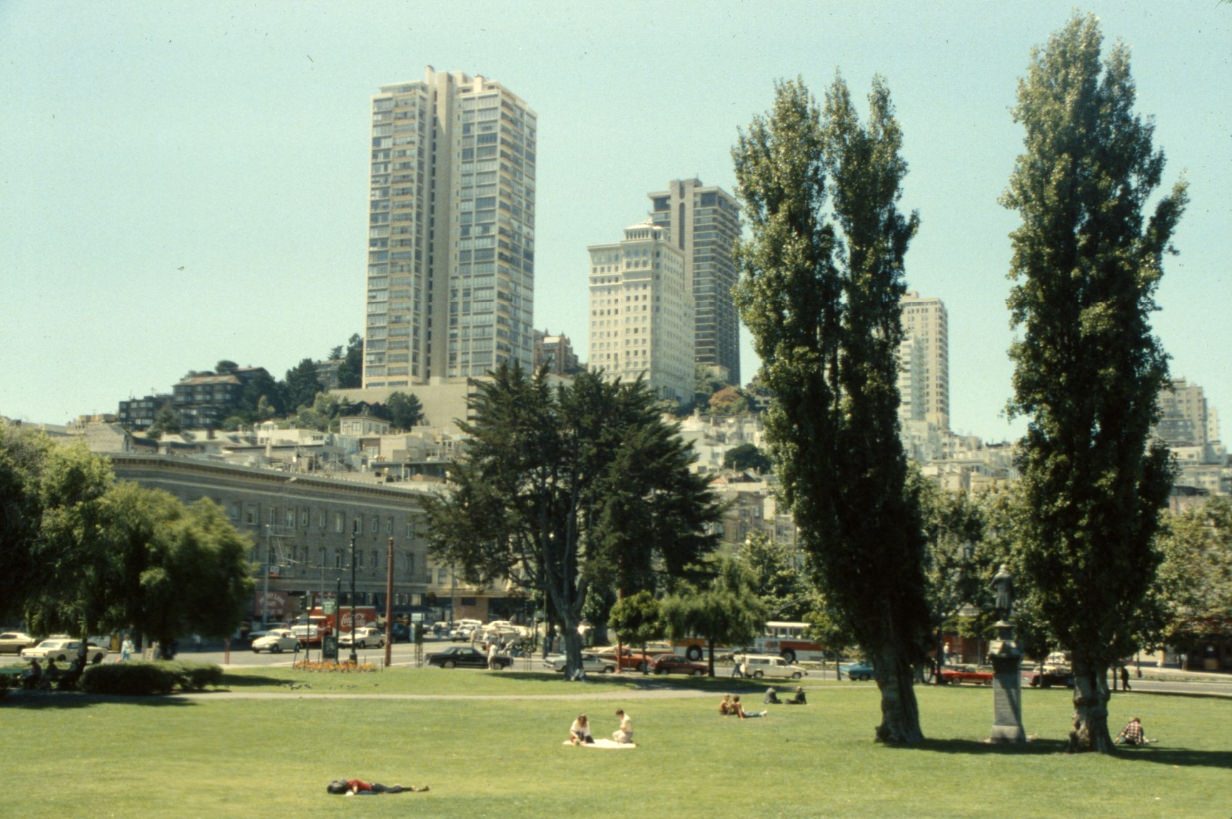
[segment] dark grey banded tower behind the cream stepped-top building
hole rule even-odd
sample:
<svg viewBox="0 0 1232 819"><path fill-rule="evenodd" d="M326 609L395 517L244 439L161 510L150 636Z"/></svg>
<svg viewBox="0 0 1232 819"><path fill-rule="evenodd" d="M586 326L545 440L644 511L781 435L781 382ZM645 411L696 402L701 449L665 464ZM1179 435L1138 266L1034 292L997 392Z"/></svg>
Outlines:
<svg viewBox="0 0 1232 819"><path fill-rule="evenodd" d="M740 321L732 288L733 249L740 235L740 207L721 187L674 180L650 193L650 219L685 254L685 280L694 299L694 361L740 384Z"/></svg>

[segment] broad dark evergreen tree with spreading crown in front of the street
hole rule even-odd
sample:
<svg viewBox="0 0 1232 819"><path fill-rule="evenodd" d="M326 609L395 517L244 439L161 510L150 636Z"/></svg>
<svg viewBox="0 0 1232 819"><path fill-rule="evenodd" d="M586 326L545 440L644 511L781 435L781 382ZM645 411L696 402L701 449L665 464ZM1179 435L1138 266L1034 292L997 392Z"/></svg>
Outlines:
<svg viewBox="0 0 1232 819"><path fill-rule="evenodd" d="M568 669L589 595L653 591L708 553L718 502L642 382L582 373L549 387L501 365L479 384L448 494L426 502L430 552L471 581L541 592Z"/></svg>

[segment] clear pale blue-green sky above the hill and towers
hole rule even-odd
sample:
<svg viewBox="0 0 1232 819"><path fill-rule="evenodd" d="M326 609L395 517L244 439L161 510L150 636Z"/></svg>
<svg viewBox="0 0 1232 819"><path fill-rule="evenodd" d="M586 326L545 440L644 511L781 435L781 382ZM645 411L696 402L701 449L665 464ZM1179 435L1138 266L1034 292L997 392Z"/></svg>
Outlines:
<svg viewBox="0 0 1232 819"><path fill-rule="evenodd" d="M0 415L64 422L223 358L276 377L362 330L370 96L425 65L538 113L535 320L586 353L586 245L699 176L777 79L886 76L923 225L912 289L950 315L952 426L1015 436L997 204L1032 46L1060 2L0 2ZM1232 5L1092 2L1132 50L1165 184L1191 204L1159 291L1174 376L1232 413ZM743 346L745 379L755 361ZM1232 415L1227 418L1232 424Z"/></svg>

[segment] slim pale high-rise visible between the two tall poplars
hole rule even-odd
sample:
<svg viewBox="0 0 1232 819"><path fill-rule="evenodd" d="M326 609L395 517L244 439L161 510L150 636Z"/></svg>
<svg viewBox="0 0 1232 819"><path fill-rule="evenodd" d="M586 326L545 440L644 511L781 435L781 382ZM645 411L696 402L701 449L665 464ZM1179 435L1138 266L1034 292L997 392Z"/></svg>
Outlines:
<svg viewBox="0 0 1232 819"><path fill-rule="evenodd" d="M949 432L950 336L945 304L912 292L899 305L903 342L898 349L898 419L928 421Z"/></svg>

